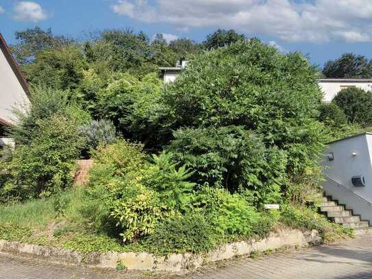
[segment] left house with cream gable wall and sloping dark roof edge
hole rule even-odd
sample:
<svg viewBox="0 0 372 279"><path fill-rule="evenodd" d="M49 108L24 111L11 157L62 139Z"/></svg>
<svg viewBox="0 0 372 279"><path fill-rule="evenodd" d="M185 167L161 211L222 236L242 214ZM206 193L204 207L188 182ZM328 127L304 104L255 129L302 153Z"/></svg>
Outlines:
<svg viewBox="0 0 372 279"><path fill-rule="evenodd" d="M5 128L12 125L13 108L22 109L29 104L27 82L14 60L8 45L0 34L0 147L12 144Z"/></svg>

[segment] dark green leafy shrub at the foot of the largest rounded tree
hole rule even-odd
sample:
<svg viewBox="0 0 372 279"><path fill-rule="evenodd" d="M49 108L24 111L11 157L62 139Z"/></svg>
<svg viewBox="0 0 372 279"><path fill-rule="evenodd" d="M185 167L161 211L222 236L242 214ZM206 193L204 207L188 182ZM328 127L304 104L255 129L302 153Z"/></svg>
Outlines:
<svg viewBox="0 0 372 279"><path fill-rule="evenodd" d="M256 202L275 202L286 183L286 154L242 127L180 129L167 150L194 171L193 181L254 191Z"/></svg>

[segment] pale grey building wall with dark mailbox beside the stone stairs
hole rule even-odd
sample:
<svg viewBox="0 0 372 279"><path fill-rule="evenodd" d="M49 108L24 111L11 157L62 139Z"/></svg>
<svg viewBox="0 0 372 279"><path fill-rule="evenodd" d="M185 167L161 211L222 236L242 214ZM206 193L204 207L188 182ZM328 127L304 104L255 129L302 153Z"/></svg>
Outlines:
<svg viewBox="0 0 372 279"><path fill-rule="evenodd" d="M325 193L372 223L372 133L329 143L323 167Z"/></svg>

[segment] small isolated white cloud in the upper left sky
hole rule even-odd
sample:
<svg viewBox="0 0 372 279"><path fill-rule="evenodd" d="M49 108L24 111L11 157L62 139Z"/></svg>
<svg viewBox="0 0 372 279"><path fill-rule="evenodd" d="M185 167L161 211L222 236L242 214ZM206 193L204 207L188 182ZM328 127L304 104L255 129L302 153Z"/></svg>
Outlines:
<svg viewBox="0 0 372 279"><path fill-rule="evenodd" d="M13 18L17 21L31 21L37 23L48 18L47 12L35 2L21 1L14 7Z"/></svg>

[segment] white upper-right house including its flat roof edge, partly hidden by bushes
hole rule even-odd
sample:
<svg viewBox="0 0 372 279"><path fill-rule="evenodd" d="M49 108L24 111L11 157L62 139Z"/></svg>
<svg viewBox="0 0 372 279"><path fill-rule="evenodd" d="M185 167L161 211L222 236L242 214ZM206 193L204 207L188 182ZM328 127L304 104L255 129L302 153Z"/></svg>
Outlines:
<svg viewBox="0 0 372 279"><path fill-rule="evenodd" d="M321 78L319 87L324 93L323 101L329 103L340 90L350 87L362 88L366 91L372 90L372 79L368 78Z"/></svg>

